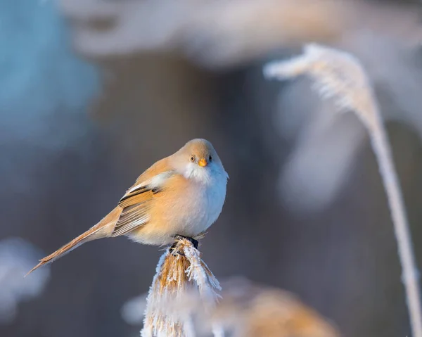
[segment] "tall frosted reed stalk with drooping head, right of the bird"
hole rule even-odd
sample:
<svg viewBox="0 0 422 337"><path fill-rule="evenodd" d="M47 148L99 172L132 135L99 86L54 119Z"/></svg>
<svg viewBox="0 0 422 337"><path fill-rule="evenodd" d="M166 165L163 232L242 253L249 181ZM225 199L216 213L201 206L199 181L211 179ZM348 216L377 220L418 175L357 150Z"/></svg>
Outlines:
<svg viewBox="0 0 422 337"><path fill-rule="evenodd" d="M368 129L395 228L412 335L422 337L421 298L409 224L388 135L364 68L349 53L309 44L301 56L267 65L264 75L278 79L309 75L322 98L335 98L339 110L354 111Z"/></svg>

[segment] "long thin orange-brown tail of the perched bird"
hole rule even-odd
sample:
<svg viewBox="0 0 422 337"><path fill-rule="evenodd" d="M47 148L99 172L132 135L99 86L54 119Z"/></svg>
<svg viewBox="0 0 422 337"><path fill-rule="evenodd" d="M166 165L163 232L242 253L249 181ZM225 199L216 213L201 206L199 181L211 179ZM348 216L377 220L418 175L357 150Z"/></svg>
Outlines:
<svg viewBox="0 0 422 337"><path fill-rule="evenodd" d="M35 269L38 269L39 267L42 267L53 261L56 261L63 255L70 253L72 250L81 246L83 243L111 236L115 223L117 222L117 220L119 220L121 212L122 212L122 208L117 206L114 210L108 213L108 215L106 215L106 217L104 217L103 220L98 222L98 224L96 224L94 227L91 227L90 229L85 231L83 234L77 236L75 239L65 244L65 246L63 246L62 248L59 248L54 253L51 253L50 255L43 257L41 260L39 260L39 264L36 265L34 268L32 268L25 275L25 277L31 274Z"/></svg>

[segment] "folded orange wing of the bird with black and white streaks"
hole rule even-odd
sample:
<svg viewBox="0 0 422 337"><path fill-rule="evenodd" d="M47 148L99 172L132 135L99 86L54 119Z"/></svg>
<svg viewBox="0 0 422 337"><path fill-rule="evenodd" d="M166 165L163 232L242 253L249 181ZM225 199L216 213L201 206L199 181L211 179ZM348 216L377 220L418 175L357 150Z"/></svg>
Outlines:
<svg viewBox="0 0 422 337"><path fill-rule="evenodd" d="M165 160L160 160L143 172L120 199L119 206L122 208L122 214L111 236L127 234L146 224L150 220L149 211L155 195L162 193L165 182L174 174L176 172L167 165Z"/></svg>

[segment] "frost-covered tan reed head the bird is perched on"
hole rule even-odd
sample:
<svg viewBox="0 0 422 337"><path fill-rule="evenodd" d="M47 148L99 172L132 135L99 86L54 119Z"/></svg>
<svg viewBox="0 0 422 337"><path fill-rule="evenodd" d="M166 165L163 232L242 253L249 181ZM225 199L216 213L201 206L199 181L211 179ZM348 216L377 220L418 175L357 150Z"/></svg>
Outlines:
<svg viewBox="0 0 422 337"><path fill-rule="evenodd" d="M195 336L193 312L188 310L192 306L187 303L188 294L194 290L204 309L212 310L221 288L191 241L180 239L172 252L167 249L160 257L148 293L141 336Z"/></svg>

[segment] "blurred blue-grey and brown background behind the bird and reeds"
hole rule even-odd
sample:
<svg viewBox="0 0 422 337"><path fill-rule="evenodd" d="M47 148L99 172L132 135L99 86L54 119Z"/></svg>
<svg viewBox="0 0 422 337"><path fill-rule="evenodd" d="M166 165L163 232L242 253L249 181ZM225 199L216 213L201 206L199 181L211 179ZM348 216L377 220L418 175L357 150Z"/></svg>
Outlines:
<svg viewBox="0 0 422 337"><path fill-rule="evenodd" d="M381 106L422 264L420 1L0 0L0 336L139 336L160 248L94 241L22 279L195 137L229 172L201 242L221 281L295 293L343 336L409 336L364 127L262 65L353 53Z"/></svg>

